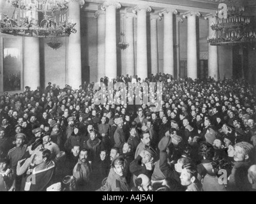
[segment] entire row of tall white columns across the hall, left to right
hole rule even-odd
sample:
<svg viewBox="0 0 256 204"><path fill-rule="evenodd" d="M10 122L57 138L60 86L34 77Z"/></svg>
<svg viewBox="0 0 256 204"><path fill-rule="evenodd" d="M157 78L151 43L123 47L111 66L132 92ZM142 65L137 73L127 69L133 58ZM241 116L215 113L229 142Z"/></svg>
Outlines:
<svg viewBox="0 0 256 204"><path fill-rule="evenodd" d="M84 0L70 0L69 15L76 23L77 33L71 34L68 38L68 84L77 89L82 84L82 64L81 64L81 39L80 39L80 6ZM116 52L116 9L121 8L121 4L113 1L105 1L102 10L95 13L97 17L97 80L107 76L116 78L117 76L117 52ZM133 13L126 13L126 41L129 47L126 48L126 73L135 75L135 49L133 36L133 19L137 17L137 73L140 78L147 77L147 24L146 13L151 12L150 6L138 5L133 8ZM136 15L137 14L137 15ZM174 76L174 39L173 39L173 15L177 15L177 10L164 9L159 15L151 15L151 73L158 73L158 39L157 20L164 18L163 36L163 73ZM183 18L188 18L188 74L190 78L197 78L197 35L196 17L200 13L188 11ZM214 15L205 17L209 20L209 35L216 35L211 30L211 23L216 21ZM179 44L179 22L177 18L177 44ZM40 55L39 52L32 52L31 47L39 50L39 40L25 38L24 47L24 85L36 89L40 85ZM26 57L29 56L29 57ZM217 79L218 76L218 53L217 47L209 45L209 76ZM179 45L177 45L177 67L179 76ZM33 74L32 74L33 73ZM36 74L35 74L36 73Z"/></svg>

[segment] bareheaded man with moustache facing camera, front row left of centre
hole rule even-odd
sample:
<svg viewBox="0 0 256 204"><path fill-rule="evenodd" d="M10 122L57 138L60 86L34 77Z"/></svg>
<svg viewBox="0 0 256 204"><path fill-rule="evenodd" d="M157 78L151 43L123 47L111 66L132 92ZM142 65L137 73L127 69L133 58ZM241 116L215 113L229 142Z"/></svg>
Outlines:
<svg viewBox="0 0 256 204"><path fill-rule="evenodd" d="M79 161L73 169L73 177L77 180L78 190L89 190L91 165L87 161L88 150L82 149L79 154Z"/></svg>

